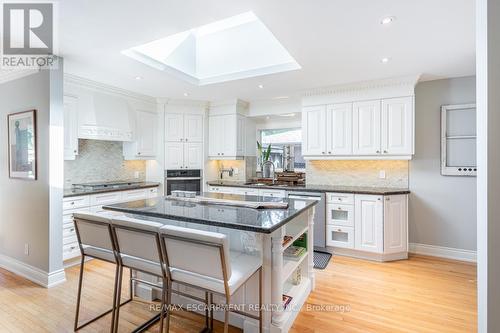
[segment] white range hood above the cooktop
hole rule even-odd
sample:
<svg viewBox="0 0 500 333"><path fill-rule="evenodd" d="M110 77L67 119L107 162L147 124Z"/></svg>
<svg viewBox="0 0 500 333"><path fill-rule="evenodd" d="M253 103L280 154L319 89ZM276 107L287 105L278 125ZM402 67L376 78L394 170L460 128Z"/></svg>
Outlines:
<svg viewBox="0 0 500 333"><path fill-rule="evenodd" d="M79 112L79 139L132 141L132 108L124 98L93 93L81 105Z"/></svg>

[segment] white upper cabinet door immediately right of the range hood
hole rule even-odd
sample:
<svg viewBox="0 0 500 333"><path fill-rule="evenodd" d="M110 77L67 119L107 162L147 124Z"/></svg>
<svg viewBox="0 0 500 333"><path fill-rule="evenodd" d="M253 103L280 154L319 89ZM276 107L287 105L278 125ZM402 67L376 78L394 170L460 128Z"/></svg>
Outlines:
<svg viewBox="0 0 500 333"><path fill-rule="evenodd" d="M136 111L137 155L156 156L158 116L154 112Z"/></svg>

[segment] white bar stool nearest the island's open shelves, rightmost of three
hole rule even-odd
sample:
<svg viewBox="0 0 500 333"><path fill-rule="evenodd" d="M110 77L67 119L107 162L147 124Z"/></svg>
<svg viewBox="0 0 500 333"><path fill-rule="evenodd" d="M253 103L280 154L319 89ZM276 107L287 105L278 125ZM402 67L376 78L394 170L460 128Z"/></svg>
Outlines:
<svg viewBox="0 0 500 333"><path fill-rule="evenodd" d="M262 260L241 252L230 252L226 235L165 225L160 229L164 259L170 269L171 282L222 295L224 332L229 329L229 312L235 312L259 321L262 333ZM233 260L231 260L233 259ZM259 273L259 315L230 309L231 296L256 272ZM171 290L167 291L170 299ZM211 311L213 321L213 312ZM167 325L170 319L168 309ZM213 329L213 324L211 325Z"/></svg>

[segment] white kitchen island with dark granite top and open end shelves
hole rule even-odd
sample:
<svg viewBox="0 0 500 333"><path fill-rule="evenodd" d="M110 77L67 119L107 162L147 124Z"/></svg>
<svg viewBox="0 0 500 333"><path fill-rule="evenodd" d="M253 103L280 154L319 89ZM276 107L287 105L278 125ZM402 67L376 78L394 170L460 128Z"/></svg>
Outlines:
<svg viewBox="0 0 500 333"><path fill-rule="evenodd" d="M287 208L253 209L212 203L194 203L172 198L152 198L104 206L106 210L131 214L136 218L154 220L228 236L231 251L259 256L263 268L264 328L267 332L287 332L292 326L310 292L314 289L313 227L315 201L258 196L203 193L203 197L251 202L287 202ZM286 237L286 242L284 241ZM302 242L306 250L297 258L284 252ZM287 251L288 252L288 251ZM297 279L297 276L300 276ZM196 289L176 286L182 293L200 297ZM233 303L247 309L257 304L258 277L252 277L240 288ZM283 308L283 299L291 301ZM173 299L181 304L193 304L181 296ZM221 301L221 299L216 299ZM249 311L256 314L255 311ZM216 313L215 317L218 318ZM221 318L221 317L219 317ZM218 318L218 319L219 319ZM244 332L257 332L258 323L231 313L231 325Z"/></svg>

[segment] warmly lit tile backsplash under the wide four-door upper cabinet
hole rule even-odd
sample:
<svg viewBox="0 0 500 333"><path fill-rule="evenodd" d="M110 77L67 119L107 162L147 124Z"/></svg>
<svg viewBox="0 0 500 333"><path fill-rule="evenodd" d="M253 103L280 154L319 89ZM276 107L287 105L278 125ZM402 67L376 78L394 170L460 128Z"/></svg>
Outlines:
<svg viewBox="0 0 500 333"><path fill-rule="evenodd" d="M408 187L408 161L308 161L306 182L314 185ZM385 178L380 178L380 171Z"/></svg>

